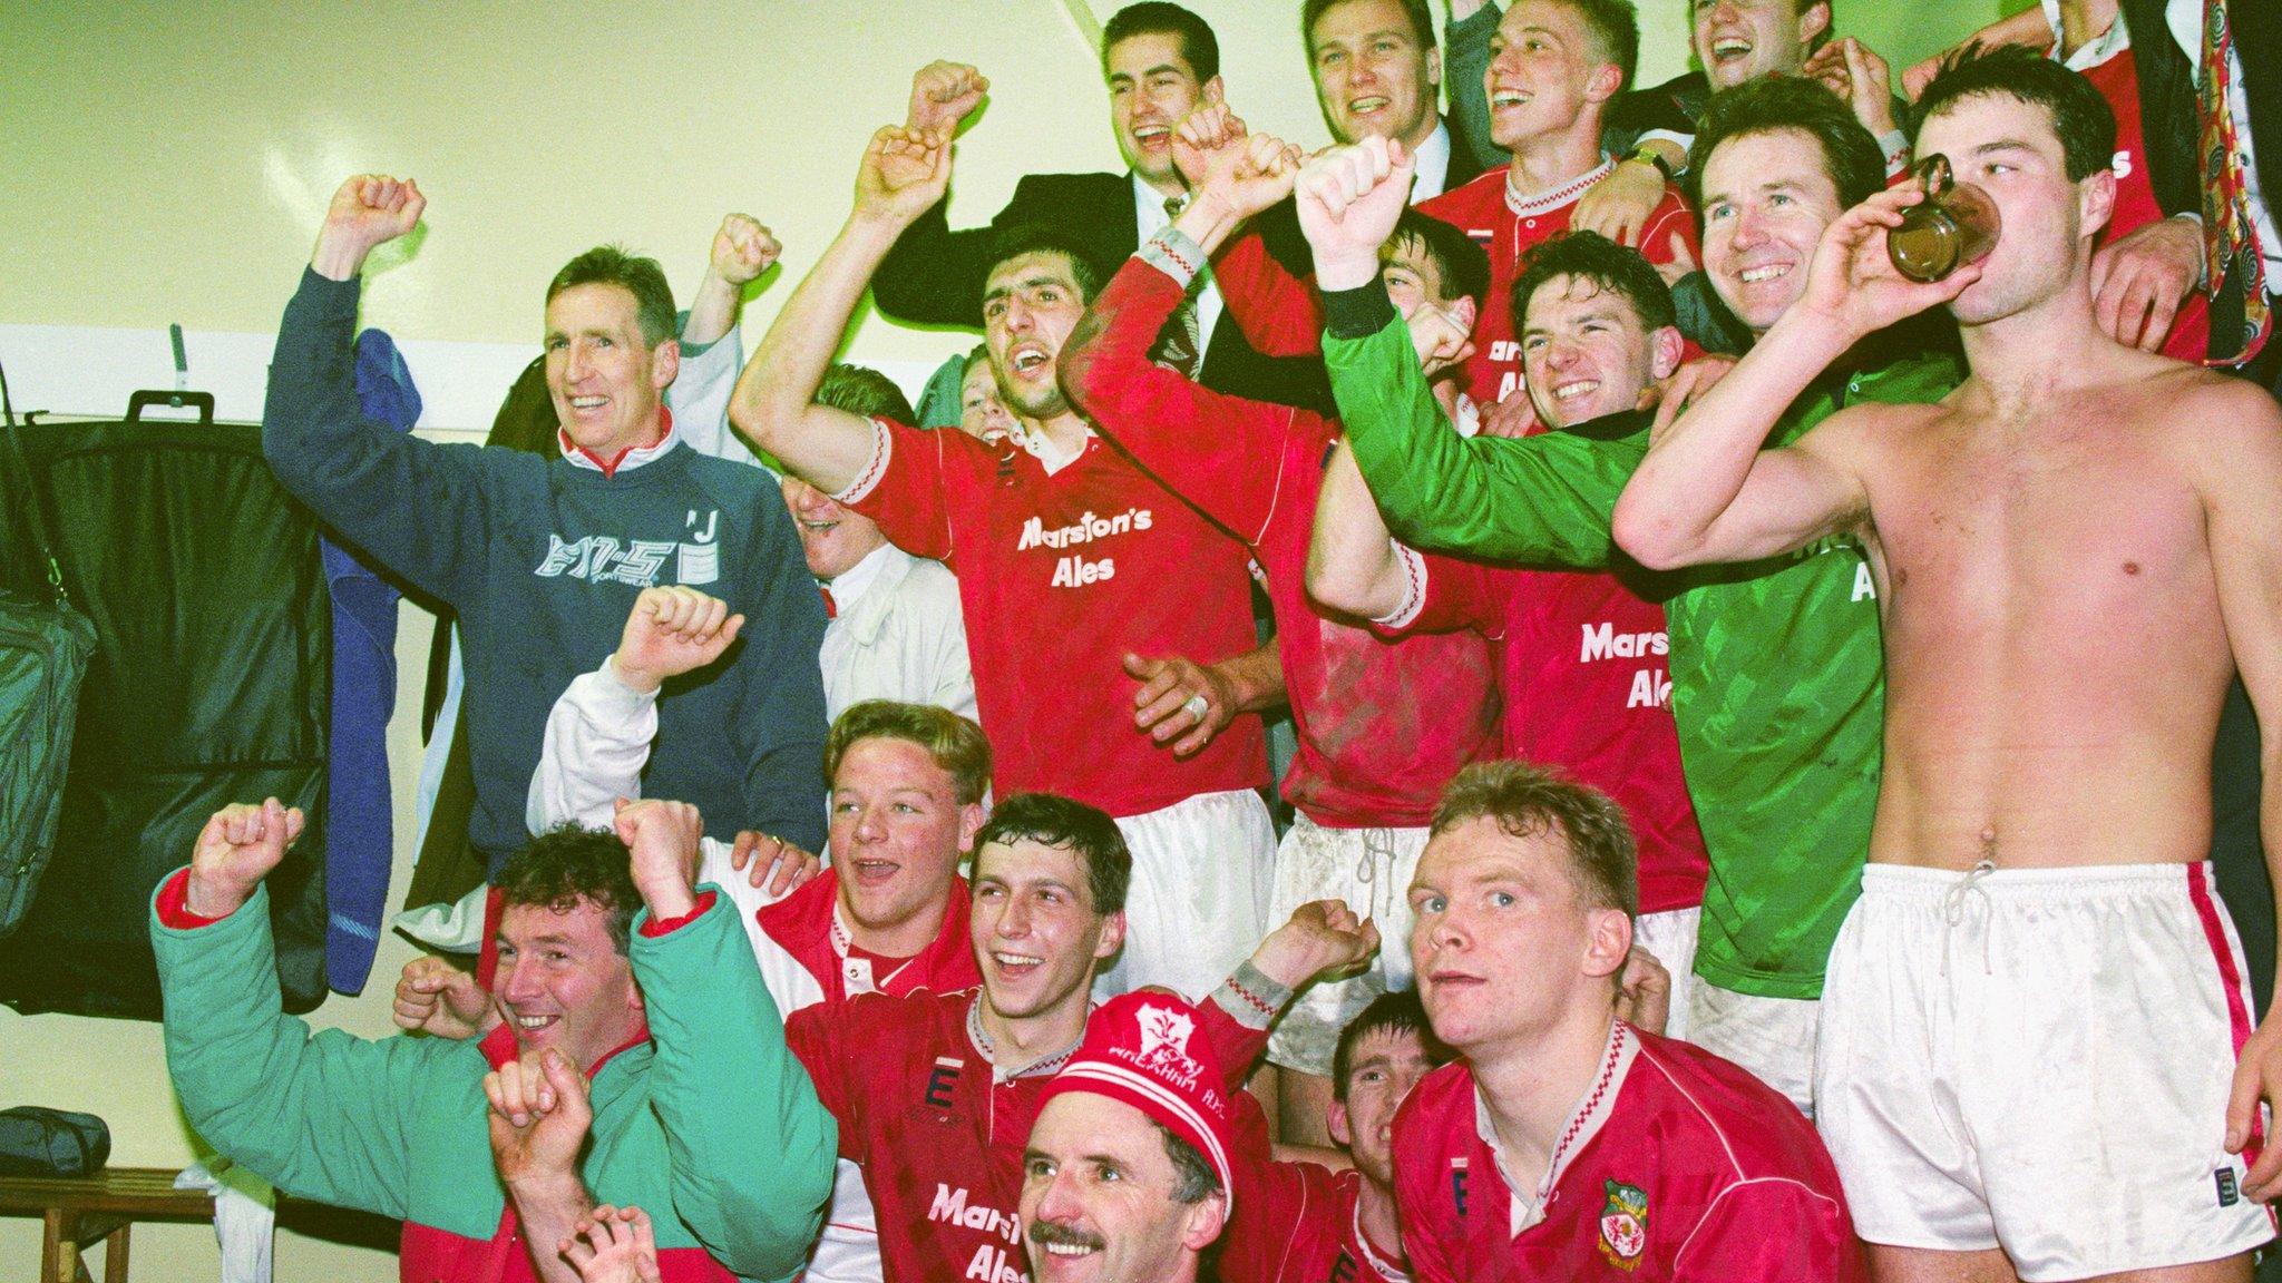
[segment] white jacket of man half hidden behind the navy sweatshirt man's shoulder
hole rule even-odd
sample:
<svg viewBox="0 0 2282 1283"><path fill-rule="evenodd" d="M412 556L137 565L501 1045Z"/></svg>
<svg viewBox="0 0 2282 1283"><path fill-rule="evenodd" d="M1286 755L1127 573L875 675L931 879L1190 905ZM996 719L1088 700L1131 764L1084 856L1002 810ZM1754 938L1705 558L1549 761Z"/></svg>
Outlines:
<svg viewBox="0 0 2282 1283"><path fill-rule="evenodd" d="M933 703L977 717L958 580L942 562L881 543L828 587L837 616L824 626L817 660L831 719L867 699Z"/></svg>

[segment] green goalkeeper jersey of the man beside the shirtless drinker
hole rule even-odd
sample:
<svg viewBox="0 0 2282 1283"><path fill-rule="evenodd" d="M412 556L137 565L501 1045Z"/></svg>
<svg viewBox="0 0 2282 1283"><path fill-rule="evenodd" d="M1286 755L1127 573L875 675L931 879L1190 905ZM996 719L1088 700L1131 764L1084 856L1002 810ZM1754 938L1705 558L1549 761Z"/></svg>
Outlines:
<svg viewBox="0 0 2282 1283"><path fill-rule="evenodd" d="M1401 541L1593 571L1623 557L1609 514L1648 454L1648 415L1629 434L1463 438L1378 285L1335 294L1326 310L1340 418ZM1853 400L1933 402L1960 377L1947 356L1828 377L1785 411L1769 445ZM1885 657L1869 564L1855 541L1828 539L1666 582L1673 719L1712 856L1696 975L1762 998L1819 998L1878 801Z"/></svg>

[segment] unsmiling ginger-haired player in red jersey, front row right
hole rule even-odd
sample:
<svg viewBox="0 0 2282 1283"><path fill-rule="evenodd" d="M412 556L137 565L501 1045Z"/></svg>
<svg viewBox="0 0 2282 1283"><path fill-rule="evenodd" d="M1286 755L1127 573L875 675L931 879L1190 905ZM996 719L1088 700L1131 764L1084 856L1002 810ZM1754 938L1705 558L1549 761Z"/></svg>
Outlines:
<svg viewBox="0 0 2282 1283"><path fill-rule="evenodd" d="M1632 836L1602 794L1467 767L1410 881L1410 959L1460 1059L1394 1116L1419 1283L1862 1278L1814 1128L1743 1068L1616 1018Z"/></svg>

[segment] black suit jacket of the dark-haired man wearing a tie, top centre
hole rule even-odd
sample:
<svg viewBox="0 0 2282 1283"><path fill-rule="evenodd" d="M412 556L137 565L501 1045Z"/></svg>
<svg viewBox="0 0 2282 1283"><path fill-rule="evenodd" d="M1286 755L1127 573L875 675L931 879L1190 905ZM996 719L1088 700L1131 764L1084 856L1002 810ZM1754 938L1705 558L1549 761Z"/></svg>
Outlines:
<svg viewBox="0 0 2282 1283"><path fill-rule="evenodd" d="M979 329L993 242L1009 228L1031 224L1075 240L1102 283L1141 249L1132 176L1031 174L990 226L952 231L940 203L922 215L872 276L872 299L881 313L906 324ZM1205 345L1203 384L1235 397L1330 411L1321 358L1262 356L1225 315Z"/></svg>

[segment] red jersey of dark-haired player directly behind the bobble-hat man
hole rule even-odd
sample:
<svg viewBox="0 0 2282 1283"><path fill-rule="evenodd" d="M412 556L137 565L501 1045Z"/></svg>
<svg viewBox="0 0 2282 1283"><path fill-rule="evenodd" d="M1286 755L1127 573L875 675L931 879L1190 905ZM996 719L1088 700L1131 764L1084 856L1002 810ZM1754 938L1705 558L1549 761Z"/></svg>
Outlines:
<svg viewBox="0 0 2282 1283"><path fill-rule="evenodd" d="M1000 1080L972 1036L970 993L860 993L785 1020L817 1098L840 1121L840 1157L863 1167L888 1283L1022 1283L1022 1148L1054 1071L1077 1050ZM1241 1094L1267 1030L1198 1002L1203 1034Z"/></svg>

